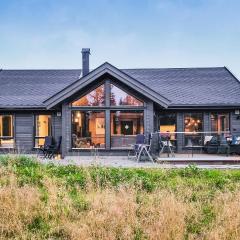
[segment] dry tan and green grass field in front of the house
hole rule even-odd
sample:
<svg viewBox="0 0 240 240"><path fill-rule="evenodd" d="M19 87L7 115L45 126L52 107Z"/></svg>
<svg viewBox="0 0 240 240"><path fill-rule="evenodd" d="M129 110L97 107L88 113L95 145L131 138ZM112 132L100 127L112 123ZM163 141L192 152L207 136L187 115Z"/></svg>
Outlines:
<svg viewBox="0 0 240 240"><path fill-rule="evenodd" d="M0 239L240 239L240 171L0 157Z"/></svg>

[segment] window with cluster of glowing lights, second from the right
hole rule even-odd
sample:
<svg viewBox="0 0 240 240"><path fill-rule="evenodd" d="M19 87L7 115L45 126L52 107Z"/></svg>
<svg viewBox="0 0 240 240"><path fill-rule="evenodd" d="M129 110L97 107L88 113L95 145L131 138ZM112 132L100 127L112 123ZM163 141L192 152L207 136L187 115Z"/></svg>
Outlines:
<svg viewBox="0 0 240 240"><path fill-rule="evenodd" d="M184 116L185 145L201 145L202 134L200 132L202 131L202 113L186 113Z"/></svg>

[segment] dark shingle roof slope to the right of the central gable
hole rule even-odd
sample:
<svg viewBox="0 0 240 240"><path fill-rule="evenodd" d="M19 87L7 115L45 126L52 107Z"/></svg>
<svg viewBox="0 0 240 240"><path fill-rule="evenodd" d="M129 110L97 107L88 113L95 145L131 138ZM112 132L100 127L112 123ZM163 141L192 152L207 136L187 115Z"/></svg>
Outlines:
<svg viewBox="0 0 240 240"><path fill-rule="evenodd" d="M225 67L126 69L171 105L240 105L240 83Z"/></svg>

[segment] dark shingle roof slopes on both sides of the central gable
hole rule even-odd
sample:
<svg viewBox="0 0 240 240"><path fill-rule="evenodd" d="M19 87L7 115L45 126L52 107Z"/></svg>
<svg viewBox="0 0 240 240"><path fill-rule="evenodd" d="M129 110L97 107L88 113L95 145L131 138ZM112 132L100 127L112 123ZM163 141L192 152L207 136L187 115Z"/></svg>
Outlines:
<svg viewBox="0 0 240 240"><path fill-rule="evenodd" d="M123 69L175 105L239 105L240 83L225 68ZM43 101L79 79L75 70L0 71L1 107L44 107Z"/></svg>

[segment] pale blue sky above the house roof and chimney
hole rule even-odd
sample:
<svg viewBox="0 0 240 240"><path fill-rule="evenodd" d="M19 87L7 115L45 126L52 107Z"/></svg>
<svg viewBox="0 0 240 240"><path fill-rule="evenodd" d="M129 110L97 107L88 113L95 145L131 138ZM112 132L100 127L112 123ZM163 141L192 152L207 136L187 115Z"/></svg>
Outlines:
<svg viewBox="0 0 240 240"><path fill-rule="evenodd" d="M227 66L240 78L239 0L0 0L0 68Z"/></svg>

